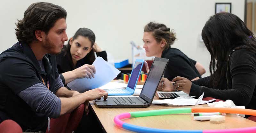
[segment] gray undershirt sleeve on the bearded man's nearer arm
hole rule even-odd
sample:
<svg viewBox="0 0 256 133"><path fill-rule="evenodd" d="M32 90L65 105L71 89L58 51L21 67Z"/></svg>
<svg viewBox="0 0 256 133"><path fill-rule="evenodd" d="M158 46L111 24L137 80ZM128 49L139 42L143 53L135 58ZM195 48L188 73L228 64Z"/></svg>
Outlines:
<svg viewBox="0 0 256 133"><path fill-rule="evenodd" d="M62 83L61 80L60 82ZM42 82L22 90L18 95L36 112L51 118L60 116L60 98L48 90Z"/></svg>

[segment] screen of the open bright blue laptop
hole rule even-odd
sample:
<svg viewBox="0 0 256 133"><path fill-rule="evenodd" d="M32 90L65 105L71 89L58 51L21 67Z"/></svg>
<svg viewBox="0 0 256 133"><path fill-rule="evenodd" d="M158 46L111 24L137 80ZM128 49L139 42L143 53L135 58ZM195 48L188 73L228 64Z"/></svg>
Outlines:
<svg viewBox="0 0 256 133"><path fill-rule="evenodd" d="M135 62L127 87L134 89L138 75L140 73L141 66L142 66L141 62L137 62L137 61Z"/></svg>

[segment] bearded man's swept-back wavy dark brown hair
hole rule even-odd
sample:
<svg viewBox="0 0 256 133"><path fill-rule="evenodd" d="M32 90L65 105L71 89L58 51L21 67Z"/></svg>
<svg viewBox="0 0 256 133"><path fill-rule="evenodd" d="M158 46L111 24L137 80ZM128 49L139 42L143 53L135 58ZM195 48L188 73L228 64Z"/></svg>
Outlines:
<svg viewBox="0 0 256 133"><path fill-rule="evenodd" d="M16 37L19 41L31 43L37 40L36 30L41 30L46 34L60 18L67 17L67 12L61 6L52 3L32 3L24 12L24 17L16 24Z"/></svg>

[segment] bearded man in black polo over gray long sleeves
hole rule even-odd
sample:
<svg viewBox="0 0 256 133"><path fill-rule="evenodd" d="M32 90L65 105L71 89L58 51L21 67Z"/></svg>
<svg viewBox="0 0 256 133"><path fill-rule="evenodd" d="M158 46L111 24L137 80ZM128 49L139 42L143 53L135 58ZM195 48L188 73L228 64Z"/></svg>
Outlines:
<svg viewBox="0 0 256 133"><path fill-rule="evenodd" d="M12 119L23 131L45 132L50 118L107 98L101 89L80 94L63 86L53 54L68 40L66 16L58 5L33 3L18 20L18 42L0 54L0 123Z"/></svg>

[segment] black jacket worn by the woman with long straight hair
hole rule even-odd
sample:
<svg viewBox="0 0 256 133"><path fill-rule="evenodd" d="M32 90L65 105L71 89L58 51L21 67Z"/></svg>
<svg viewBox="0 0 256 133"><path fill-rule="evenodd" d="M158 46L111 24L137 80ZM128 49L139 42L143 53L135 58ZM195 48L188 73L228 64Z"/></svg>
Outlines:
<svg viewBox="0 0 256 133"><path fill-rule="evenodd" d="M232 100L237 106L256 109L256 54L246 49L235 50L228 61L227 78L221 88L209 84L210 76L192 81L189 95Z"/></svg>

